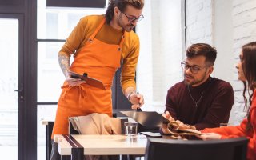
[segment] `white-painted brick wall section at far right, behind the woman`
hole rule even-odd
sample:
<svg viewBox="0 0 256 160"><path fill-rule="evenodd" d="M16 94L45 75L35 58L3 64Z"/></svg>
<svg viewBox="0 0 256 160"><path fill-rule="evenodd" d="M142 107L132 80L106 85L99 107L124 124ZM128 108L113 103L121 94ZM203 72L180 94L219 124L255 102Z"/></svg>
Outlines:
<svg viewBox="0 0 256 160"><path fill-rule="evenodd" d="M256 40L256 0L233 1L233 27L234 27L234 54L235 62L238 62L238 54L241 46L247 42ZM237 73L234 70L235 103L230 121L239 122L244 116L244 103L242 98L243 85L238 82Z"/></svg>

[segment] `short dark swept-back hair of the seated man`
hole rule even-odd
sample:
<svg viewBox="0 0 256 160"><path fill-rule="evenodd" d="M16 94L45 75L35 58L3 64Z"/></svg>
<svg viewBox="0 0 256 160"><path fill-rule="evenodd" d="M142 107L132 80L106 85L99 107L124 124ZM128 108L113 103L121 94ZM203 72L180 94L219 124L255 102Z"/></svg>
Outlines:
<svg viewBox="0 0 256 160"><path fill-rule="evenodd" d="M210 63L209 65L214 65L217 51L214 47L206 44L206 43L196 43L191 45L186 50L186 57L187 58L194 58L199 55L202 55L206 58L206 62Z"/></svg>

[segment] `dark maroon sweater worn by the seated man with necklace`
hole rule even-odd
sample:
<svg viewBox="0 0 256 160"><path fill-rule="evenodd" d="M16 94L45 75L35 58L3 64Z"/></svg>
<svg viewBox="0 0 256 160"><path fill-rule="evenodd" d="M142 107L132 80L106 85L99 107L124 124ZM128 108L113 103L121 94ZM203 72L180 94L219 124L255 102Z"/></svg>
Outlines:
<svg viewBox="0 0 256 160"><path fill-rule="evenodd" d="M195 102L198 102L202 96L198 107L190 93ZM178 82L168 90L166 97L166 110L171 116L195 126L197 130L218 127L221 122L228 122L233 104L232 86L229 82L218 78L208 78L206 82L196 87Z"/></svg>

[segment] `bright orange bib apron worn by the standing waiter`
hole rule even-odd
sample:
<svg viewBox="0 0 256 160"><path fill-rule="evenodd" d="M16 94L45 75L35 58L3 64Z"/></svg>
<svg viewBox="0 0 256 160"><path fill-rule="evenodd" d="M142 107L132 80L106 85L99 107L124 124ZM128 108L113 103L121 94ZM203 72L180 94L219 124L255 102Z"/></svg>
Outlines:
<svg viewBox="0 0 256 160"><path fill-rule="evenodd" d="M125 34L119 45L107 44L94 38L105 24L105 18L74 56L70 70L103 82L106 90L101 90L86 83L80 86L68 86L64 82L62 94L58 100L58 110L54 122L53 134L68 134L68 118L91 113L104 113L112 117L111 86L114 74L120 67L121 48Z"/></svg>

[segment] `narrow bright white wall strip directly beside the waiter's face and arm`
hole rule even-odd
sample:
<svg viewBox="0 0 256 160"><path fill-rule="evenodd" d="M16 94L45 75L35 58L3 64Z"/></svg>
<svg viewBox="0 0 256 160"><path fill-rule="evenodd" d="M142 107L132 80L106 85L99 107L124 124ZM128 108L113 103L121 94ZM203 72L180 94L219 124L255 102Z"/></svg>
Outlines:
<svg viewBox="0 0 256 160"><path fill-rule="evenodd" d="M137 90L144 95L145 106L150 109L152 103L152 93L153 93L153 69L152 69L152 20L151 20L151 1L147 1L144 6L143 14L145 18L138 23L136 27L136 32L140 38L140 54L138 59L137 73L136 73L136 83ZM145 108L143 106L143 108Z"/></svg>

